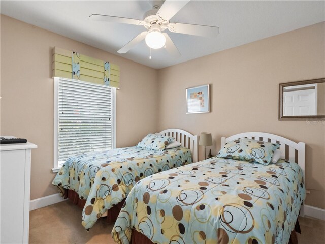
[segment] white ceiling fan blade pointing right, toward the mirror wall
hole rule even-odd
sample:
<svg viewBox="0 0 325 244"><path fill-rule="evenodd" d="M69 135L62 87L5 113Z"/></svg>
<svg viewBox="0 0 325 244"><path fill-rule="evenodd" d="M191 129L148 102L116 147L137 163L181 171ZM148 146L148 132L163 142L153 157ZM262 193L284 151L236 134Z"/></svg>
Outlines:
<svg viewBox="0 0 325 244"><path fill-rule="evenodd" d="M169 23L168 29L171 32L202 37L216 37L219 34L219 27L198 24Z"/></svg>

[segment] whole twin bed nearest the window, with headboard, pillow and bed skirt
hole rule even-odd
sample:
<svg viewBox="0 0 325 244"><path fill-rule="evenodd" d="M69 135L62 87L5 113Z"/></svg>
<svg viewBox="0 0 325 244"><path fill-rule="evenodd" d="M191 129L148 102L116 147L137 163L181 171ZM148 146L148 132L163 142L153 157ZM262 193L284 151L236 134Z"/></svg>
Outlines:
<svg viewBox="0 0 325 244"><path fill-rule="evenodd" d="M79 154L63 164L53 185L83 208L82 225L87 230L100 217L115 221L140 179L198 161L198 136L180 129L149 135L137 146ZM180 146L165 149L164 142L179 142ZM163 149L152 150L162 143Z"/></svg>

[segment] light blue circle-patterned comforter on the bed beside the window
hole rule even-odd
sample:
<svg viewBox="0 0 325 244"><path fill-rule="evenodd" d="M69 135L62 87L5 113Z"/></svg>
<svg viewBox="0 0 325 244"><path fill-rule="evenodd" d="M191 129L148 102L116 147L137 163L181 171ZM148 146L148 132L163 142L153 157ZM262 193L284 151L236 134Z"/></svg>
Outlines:
<svg viewBox="0 0 325 244"><path fill-rule="evenodd" d="M71 189L80 199L87 199L82 225L89 229L140 179L192 163L191 155L186 147L155 151L135 146L76 155L63 164L52 184L62 193Z"/></svg>

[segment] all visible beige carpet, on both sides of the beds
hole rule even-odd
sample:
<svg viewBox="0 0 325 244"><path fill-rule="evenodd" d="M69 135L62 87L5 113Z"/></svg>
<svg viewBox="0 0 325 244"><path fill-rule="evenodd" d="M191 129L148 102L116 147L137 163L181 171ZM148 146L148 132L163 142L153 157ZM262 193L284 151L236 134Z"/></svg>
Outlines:
<svg viewBox="0 0 325 244"><path fill-rule="evenodd" d="M113 224L100 219L87 232L81 225L81 212L70 201L30 211L29 243L115 243L111 237ZM325 221L299 217L299 223L299 244L325 243Z"/></svg>

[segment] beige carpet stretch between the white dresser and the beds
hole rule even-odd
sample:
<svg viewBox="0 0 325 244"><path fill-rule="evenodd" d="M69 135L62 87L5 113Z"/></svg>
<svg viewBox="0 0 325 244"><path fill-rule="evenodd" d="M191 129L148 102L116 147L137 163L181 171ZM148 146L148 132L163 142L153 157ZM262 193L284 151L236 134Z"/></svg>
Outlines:
<svg viewBox="0 0 325 244"><path fill-rule="evenodd" d="M81 225L81 212L70 200L30 211L29 243L115 243L113 224L101 218L87 232Z"/></svg>

